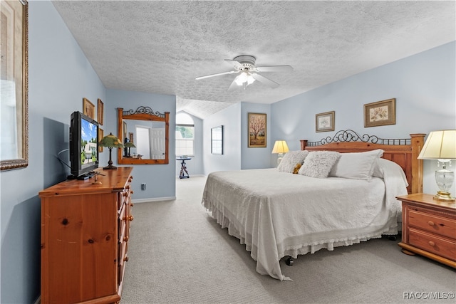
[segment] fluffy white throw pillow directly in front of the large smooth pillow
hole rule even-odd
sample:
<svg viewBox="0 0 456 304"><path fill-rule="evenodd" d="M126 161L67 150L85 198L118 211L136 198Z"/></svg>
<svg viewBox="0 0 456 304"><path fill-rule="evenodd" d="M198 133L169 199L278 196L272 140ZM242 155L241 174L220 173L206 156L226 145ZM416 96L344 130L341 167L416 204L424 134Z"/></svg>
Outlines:
<svg viewBox="0 0 456 304"><path fill-rule="evenodd" d="M331 151L312 151L306 157L306 161L299 169L299 174L306 175L307 177L316 177L323 179L328 177L329 172L333 165L339 158L339 152Z"/></svg>

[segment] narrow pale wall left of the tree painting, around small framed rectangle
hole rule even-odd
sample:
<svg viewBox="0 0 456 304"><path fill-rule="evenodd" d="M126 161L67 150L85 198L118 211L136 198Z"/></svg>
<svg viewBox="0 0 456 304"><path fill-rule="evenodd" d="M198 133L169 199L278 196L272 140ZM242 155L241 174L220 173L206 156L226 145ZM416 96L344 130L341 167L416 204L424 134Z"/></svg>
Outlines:
<svg viewBox="0 0 456 304"><path fill-rule="evenodd" d="M204 174L241 169L241 104L237 103L203 120ZM211 154L211 128L223 125L223 154Z"/></svg>

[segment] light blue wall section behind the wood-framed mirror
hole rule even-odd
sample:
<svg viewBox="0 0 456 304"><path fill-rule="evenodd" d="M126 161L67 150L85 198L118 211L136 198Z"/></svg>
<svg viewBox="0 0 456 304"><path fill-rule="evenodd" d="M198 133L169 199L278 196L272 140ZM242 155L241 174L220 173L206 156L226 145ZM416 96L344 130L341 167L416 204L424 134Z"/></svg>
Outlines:
<svg viewBox="0 0 456 304"><path fill-rule="evenodd" d="M142 164L135 165L133 169L132 189L135 193L133 201L142 201L147 199L175 197L175 125L176 125L176 97L174 95L162 95L152 93L140 93L125 90L108 89L106 92L108 102L105 104L105 125L103 130L105 134L113 132L118 134L117 130L117 108L123 110L136 110L140 106L152 108L154 112L170 112L170 135L169 135L169 164ZM108 155L108 150L102 154ZM117 164L117 153L113 150L113 162ZM106 162L107 164L107 162ZM100 165L103 165L101 163ZM141 184L147 185L145 190L141 190Z"/></svg>

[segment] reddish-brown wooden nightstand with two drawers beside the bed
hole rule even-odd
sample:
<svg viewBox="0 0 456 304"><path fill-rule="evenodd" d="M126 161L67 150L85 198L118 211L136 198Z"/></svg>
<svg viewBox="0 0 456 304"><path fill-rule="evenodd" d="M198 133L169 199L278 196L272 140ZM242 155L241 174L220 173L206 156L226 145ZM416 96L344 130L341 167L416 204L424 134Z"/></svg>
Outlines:
<svg viewBox="0 0 456 304"><path fill-rule="evenodd" d="M418 253L456 268L456 204L430 194L398 196L402 201L403 253Z"/></svg>

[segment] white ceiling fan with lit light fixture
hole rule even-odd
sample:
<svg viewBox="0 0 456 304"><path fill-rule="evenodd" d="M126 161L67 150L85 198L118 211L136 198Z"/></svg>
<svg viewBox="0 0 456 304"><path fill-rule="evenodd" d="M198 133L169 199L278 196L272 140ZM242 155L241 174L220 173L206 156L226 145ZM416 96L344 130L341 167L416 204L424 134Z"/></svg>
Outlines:
<svg viewBox="0 0 456 304"><path fill-rule="evenodd" d="M255 80L258 80L260 83L268 85L270 88L279 87L279 83L264 77L259 73L266 72L290 72L293 70L291 65L269 65L269 66L255 66L256 58L249 55L241 55L234 57L234 59L225 59L225 61L232 63L234 65L234 70L229 70L227 72L199 76L195 80L200 80L204 78L226 75L232 73L238 73L239 75L234 78L231 85L229 85L228 90L234 90L238 86L242 86L244 89L247 88L247 85L251 85Z"/></svg>

